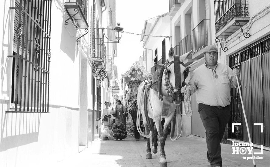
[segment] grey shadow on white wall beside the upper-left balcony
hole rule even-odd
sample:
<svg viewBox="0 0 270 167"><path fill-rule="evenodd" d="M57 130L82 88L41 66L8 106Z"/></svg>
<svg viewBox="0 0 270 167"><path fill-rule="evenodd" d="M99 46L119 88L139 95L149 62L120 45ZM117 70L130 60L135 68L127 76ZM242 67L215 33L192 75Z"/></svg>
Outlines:
<svg viewBox="0 0 270 167"><path fill-rule="evenodd" d="M55 2L55 6L56 9L60 10L62 12L62 29L61 29L61 41L60 41L60 49L62 52L66 53L67 56L69 56L69 58L73 61L75 61L75 56L76 55L76 33L77 30L75 28L75 26L73 25L73 23L71 22L71 20L68 20L67 22L69 23L68 25L65 25L65 20L69 18L69 16L66 14L65 9L63 9L63 5L61 4L61 2L59 1L54 1ZM54 19L57 19L58 17L52 17L52 23L53 22L57 22L54 21ZM57 29L59 29L58 27L56 27ZM57 29L54 29L54 31L57 31ZM59 30L58 30L59 31Z"/></svg>

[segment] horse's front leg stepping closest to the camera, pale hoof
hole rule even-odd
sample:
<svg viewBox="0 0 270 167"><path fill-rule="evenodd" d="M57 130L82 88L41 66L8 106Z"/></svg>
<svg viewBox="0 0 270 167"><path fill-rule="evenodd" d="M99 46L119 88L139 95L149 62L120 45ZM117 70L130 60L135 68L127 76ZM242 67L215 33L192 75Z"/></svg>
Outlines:
<svg viewBox="0 0 270 167"><path fill-rule="evenodd" d="M174 117L174 112L169 113L170 115L168 115L165 118L165 123L164 123L164 129L162 130L162 126L161 126L161 121L158 122L158 124L156 124L157 126L157 131L158 131L158 141L160 144L160 161L159 164L161 167L167 167L167 160L166 160L166 154L164 151L164 146L165 146L165 141L167 139L167 135L168 135L168 128L170 125L170 122L172 121L173 117Z"/></svg>

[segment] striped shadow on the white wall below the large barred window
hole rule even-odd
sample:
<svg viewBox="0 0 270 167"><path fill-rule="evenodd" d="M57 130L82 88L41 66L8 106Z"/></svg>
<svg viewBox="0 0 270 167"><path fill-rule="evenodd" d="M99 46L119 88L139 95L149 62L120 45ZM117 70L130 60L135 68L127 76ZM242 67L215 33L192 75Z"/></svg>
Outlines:
<svg viewBox="0 0 270 167"><path fill-rule="evenodd" d="M1 107L0 152L38 141L41 114L5 113Z"/></svg>

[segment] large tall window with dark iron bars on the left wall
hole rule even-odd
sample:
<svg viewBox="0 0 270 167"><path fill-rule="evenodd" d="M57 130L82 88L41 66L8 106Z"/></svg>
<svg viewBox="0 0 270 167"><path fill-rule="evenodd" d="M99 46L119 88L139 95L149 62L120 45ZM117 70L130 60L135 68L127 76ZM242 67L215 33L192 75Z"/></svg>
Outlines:
<svg viewBox="0 0 270 167"><path fill-rule="evenodd" d="M14 111L49 110L51 0L16 0L11 102Z"/></svg>

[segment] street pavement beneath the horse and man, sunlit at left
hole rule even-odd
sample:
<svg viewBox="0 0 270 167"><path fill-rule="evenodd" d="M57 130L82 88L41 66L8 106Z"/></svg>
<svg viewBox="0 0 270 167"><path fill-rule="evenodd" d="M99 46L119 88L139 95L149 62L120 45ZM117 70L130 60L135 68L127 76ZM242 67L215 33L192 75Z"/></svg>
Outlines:
<svg viewBox="0 0 270 167"><path fill-rule="evenodd" d="M136 141L134 136L128 136L122 141L95 140L89 148L74 154L68 159L57 162L56 166L158 167L159 151L157 154L152 153L152 159L146 159L146 141L143 141L143 137L141 138L139 141ZM210 167L210 163L206 158L206 151L205 138L190 135L187 138L181 137L177 141L171 141L168 136L165 143L167 166ZM260 152L260 150L254 149L254 152ZM232 155L232 145L221 144L221 156L223 167L253 166L251 159L243 159L243 157L251 157L251 155ZM264 150L262 155L255 156L263 158L255 160L257 167L270 166L270 152Z"/></svg>

